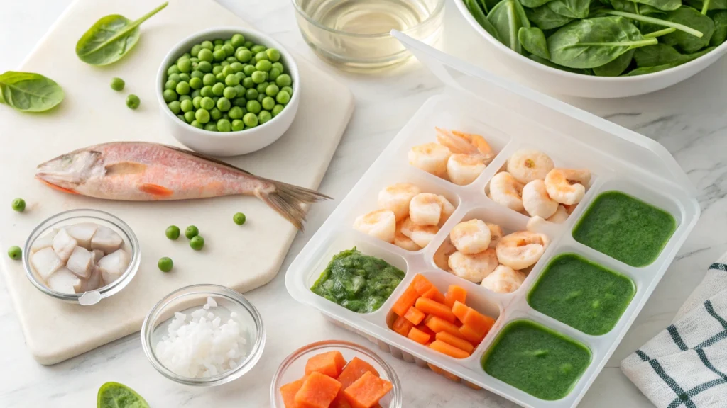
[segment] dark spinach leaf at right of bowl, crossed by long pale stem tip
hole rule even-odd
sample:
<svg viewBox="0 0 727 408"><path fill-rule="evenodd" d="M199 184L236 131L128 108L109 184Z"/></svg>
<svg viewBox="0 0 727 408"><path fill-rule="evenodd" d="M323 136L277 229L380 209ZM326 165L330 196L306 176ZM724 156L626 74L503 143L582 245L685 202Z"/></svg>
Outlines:
<svg viewBox="0 0 727 408"><path fill-rule="evenodd" d="M668 12L664 20L672 23L679 23L687 27L700 31L702 37L693 36L683 31L675 31L674 33L662 36L664 44L675 47L681 52L692 53L710 44L712 33L715 31L715 23L710 17L703 15L691 7L681 7L680 9Z"/></svg>

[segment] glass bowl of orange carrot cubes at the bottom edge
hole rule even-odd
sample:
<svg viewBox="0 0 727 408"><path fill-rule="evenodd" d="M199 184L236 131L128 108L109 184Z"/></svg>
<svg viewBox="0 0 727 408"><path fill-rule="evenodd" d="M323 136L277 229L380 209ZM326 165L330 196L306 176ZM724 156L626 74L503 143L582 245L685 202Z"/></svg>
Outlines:
<svg viewBox="0 0 727 408"><path fill-rule="evenodd" d="M273 408L401 408L401 383L373 351L344 340L294 351L270 385Z"/></svg>

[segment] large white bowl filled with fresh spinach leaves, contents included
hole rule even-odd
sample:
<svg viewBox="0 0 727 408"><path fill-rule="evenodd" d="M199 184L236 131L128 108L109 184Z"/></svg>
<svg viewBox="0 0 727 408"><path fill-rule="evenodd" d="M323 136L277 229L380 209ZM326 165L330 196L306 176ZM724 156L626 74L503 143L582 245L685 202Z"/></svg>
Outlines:
<svg viewBox="0 0 727 408"><path fill-rule="evenodd" d="M727 0L456 2L516 73L558 94L646 94L727 52Z"/></svg>

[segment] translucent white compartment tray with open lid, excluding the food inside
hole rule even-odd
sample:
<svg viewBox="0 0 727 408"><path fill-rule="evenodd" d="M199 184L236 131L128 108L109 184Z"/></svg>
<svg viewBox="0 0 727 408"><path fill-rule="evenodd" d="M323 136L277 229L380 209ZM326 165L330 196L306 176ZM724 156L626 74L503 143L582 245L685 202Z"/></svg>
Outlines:
<svg viewBox="0 0 727 408"><path fill-rule="evenodd" d="M318 309L342 327L358 332L379 348L420 366L434 364L463 381L504 396L523 407L575 407L664 275L688 233L699 219L699 205L686 174L660 144L614 123L590 115L536 91L518 86L486 71L431 49L401 33L393 33L425 63L447 87L431 97L386 147L369 171L310 239L286 274L289 293L301 303ZM498 155L472 184L457 186L409 166L407 152L417 144L435 141L434 127L455 128L482 134ZM559 167L585 167L593 180L585 198L563 224L546 223L541 232L552 239L540 261L514 293L500 294L444 272L433 255L460 221L480 218L501 225L505 232L526 229L527 216L492 202L486 195L491 177L510 155L523 147L542 150ZM354 230L356 216L377 209L380 189L397 182L411 182L425 192L445 195L457 209L433 242L410 252ZM635 268L576 242L574 225L601 192L618 190L662 208L674 216L677 227L654 263ZM371 314L357 314L312 293L310 286L341 250L357 247L406 272L386 303ZM561 253L577 253L601 266L629 277L636 294L616 326L606 335L586 335L531 309L527 295L550 260ZM414 275L424 274L441 292L448 285L465 287L468 306L497 317L492 330L467 359L454 359L422 346L390 330L390 308ZM583 343L592 361L571 391L557 401L544 401L488 375L481 358L502 327L516 319L530 319Z"/></svg>

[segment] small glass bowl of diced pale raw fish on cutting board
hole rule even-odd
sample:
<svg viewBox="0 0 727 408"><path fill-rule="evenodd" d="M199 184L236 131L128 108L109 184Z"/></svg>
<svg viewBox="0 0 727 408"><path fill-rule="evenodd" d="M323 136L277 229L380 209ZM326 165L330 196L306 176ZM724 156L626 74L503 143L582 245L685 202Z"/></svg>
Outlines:
<svg viewBox="0 0 727 408"><path fill-rule="evenodd" d="M57 213L33 229L23 250L28 280L52 298L90 306L119 293L139 269L132 229L104 211Z"/></svg>

